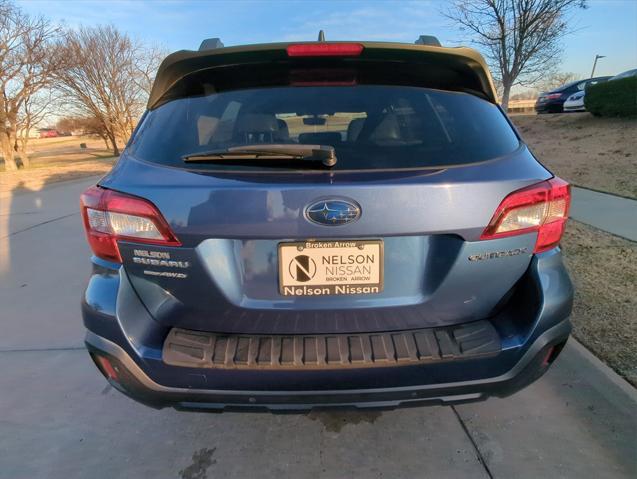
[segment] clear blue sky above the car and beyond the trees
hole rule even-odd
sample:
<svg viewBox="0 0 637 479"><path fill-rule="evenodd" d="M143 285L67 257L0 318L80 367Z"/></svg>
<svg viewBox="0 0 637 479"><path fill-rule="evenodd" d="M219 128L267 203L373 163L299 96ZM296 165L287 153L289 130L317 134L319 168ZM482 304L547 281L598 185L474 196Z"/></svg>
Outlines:
<svg viewBox="0 0 637 479"><path fill-rule="evenodd" d="M226 46L277 41L378 40L411 43L437 36L443 45L469 45L469 38L441 11L446 0L159 1L18 0L28 13L69 27L112 24L131 37L168 51L196 50L219 37ZM588 0L571 20L560 70L589 77L637 68L637 0Z"/></svg>

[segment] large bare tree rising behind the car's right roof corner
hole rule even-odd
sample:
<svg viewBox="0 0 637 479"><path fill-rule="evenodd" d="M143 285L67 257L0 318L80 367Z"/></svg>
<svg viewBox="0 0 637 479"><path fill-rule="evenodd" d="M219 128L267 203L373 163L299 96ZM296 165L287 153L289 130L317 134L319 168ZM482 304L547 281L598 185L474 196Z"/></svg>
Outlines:
<svg viewBox="0 0 637 479"><path fill-rule="evenodd" d="M578 8L586 0L454 0L444 13L487 57L506 110L513 85L531 85L556 67L568 15Z"/></svg>

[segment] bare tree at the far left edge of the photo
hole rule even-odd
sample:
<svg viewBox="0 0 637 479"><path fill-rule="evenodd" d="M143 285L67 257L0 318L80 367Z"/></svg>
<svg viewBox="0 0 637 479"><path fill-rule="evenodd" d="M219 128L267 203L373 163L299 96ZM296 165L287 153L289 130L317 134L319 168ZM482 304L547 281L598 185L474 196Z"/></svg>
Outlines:
<svg viewBox="0 0 637 479"><path fill-rule="evenodd" d="M59 67L49 54L58 33L47 19L31 17L0 0L0 152L7 170L18 168L15 150L21 119ZM21 161L29 166L26 147Z"/></svg>

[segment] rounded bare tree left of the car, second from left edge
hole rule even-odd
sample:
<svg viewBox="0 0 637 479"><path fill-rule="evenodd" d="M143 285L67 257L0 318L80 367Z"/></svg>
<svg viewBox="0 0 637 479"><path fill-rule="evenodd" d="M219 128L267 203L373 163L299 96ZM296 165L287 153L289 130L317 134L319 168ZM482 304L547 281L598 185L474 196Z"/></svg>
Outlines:
<svg viewBox="0 0 637 479"><path fill-rule="evenodd" d="M97 119L119 155L143 112L158 57L113 26L68 31L58 55L65 61L56 77L67 111Z"/></svg>

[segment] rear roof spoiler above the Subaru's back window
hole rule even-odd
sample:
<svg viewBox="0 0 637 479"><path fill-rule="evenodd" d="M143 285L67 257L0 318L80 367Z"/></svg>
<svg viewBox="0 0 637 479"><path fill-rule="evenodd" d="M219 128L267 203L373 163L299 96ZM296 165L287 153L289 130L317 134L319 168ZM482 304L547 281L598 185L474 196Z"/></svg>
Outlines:
<svg viewBox="0 0 637 479"><path fill-rule="evenodd" d="M298 44L357 43L363 46L357 61L419 62L443 67L459 76L467 89L496 103L497 94L487 64L477 51L466 47L441 47L393 42L292 42L222 47L209 50L180 50L168 55L159 66L148 99L148 109L157 108L166 94L181 80L193 73L218 67L272 64L299 61L290 58L287 47ZM301 59L307 62L311 59Z"/></svg>

